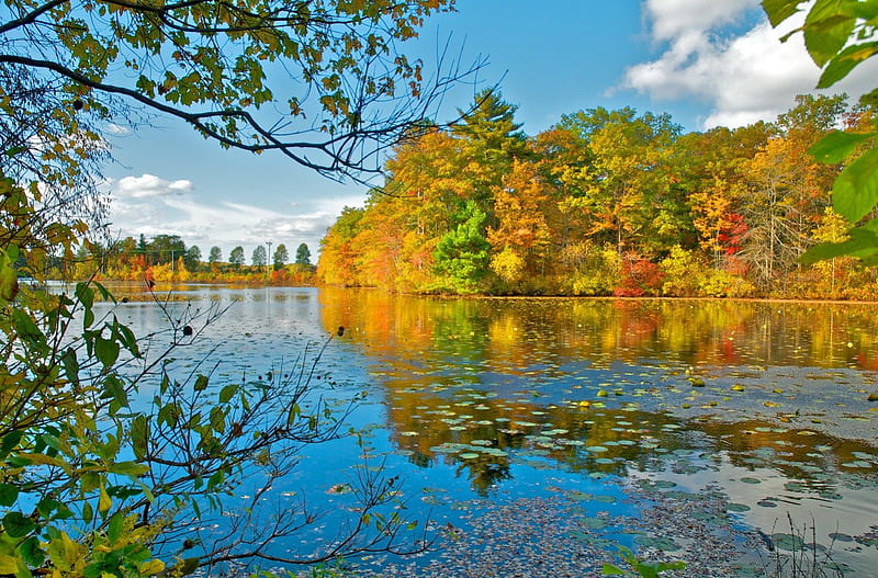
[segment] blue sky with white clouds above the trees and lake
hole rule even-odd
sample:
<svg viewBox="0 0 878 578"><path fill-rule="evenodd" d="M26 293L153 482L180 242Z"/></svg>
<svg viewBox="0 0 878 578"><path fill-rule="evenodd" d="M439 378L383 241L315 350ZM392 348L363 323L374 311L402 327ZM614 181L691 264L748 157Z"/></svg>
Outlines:
<svg viewBox="0 0 878 578"><path fill-rule="evenodd" d="M785 29L770 27L759 0L457 0L457 9L403 45L428 66L446 42L464 63L486 59L475 88L447 95L447 120L477 88L498 84L530 135L598 106L669 113L687 132L736 127L775 120L819 77L801 35L781 44ZM875 65L832 92L870 90ZM281 155L224 150L173 118L111 128L105 189L120 238L179 235L204 259L213 246L224 259L241 246L248 262L257 245L284 243L294 256L304 242L316 262L327 227L365 199L362 184Z"/></svg>

